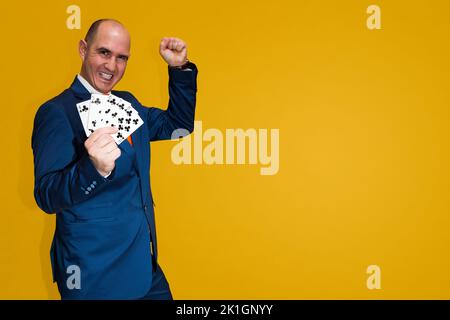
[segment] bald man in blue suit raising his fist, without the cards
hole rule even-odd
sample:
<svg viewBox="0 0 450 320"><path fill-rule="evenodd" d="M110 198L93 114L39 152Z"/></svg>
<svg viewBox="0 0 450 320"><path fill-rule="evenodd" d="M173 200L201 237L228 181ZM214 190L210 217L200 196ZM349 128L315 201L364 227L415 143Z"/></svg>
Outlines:
<svg viewBox="0 0 450 320"><path fill-rule="evenodd" d="M36 113L34 196L56 214L50 258L62 299L172 299L157 260L149 142L193 131L198 71L181 39L163 38L159 53L169 72L166 110L113 90L130 58L130 35L116 20L98 20L79 42L80 73ZM131 139L117 145L110 127L86 136L76 105L94 93L136 109L144 123Z"/></svg>

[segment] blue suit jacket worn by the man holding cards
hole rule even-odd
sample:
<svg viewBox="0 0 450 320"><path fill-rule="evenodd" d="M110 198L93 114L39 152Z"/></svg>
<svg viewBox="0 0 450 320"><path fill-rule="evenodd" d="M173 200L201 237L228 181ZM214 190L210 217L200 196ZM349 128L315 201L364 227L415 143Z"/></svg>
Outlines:
<svg viewBox="0 0 450 320"><path fill-rule="evenodd" d="M190 68L169 69L167 110L144 107L129 92L112 92L130 102L144 124L133 133L133 146L119 145L121 156L106 179L84 147L76 104L90 94L77 78L37 111L34 196L43 211L56 213L50 257L63 299L133 299L150 289L157 245L149 142L170 139L175 129L192 132L197 68ZM80 270L80 289L67 286L71 266Z"/></svg>

